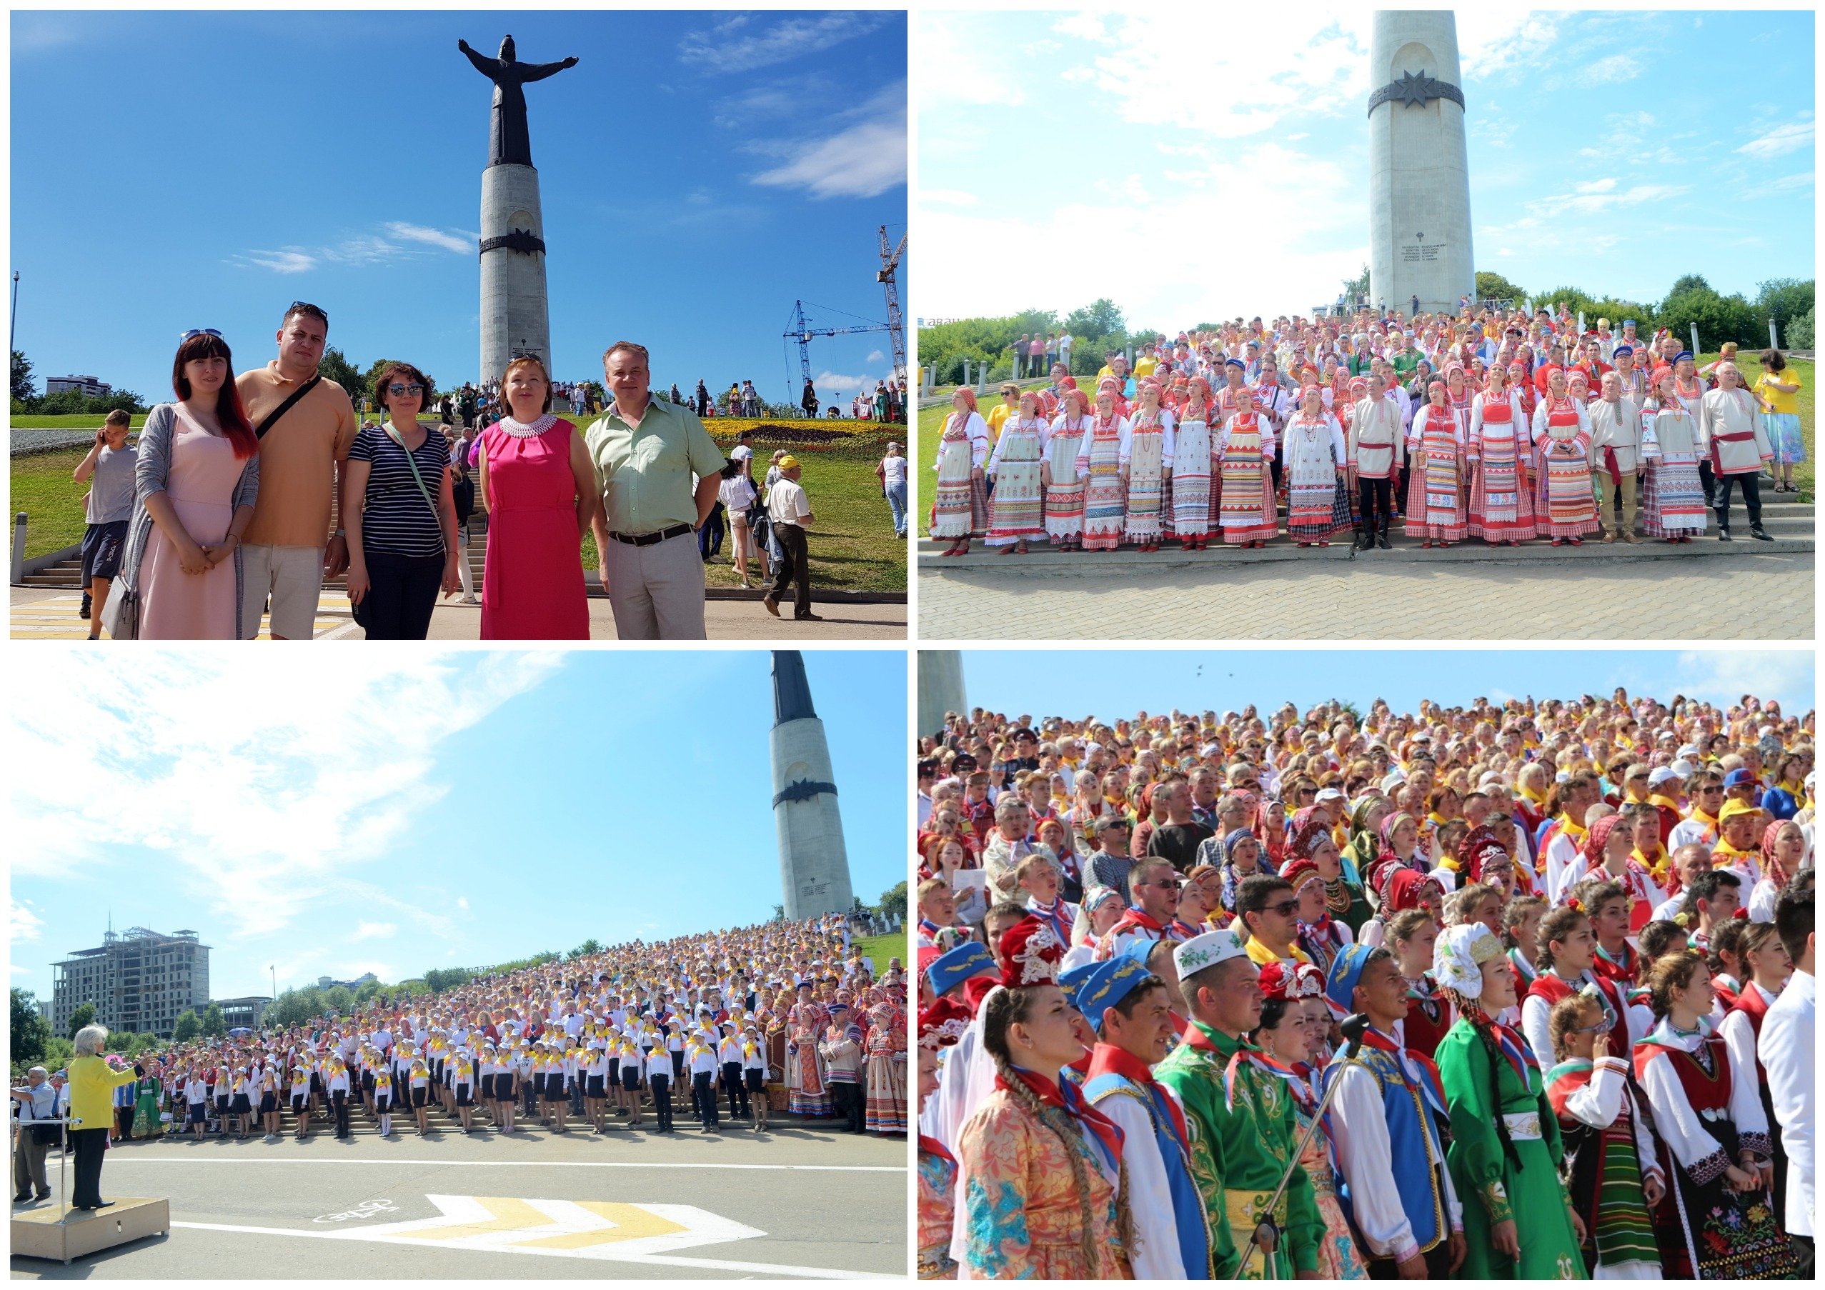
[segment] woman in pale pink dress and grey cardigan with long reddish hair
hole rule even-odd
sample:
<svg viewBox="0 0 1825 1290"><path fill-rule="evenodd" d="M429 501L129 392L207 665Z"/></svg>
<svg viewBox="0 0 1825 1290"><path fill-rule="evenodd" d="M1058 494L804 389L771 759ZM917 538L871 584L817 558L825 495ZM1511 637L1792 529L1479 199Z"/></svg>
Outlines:
<svg viewBox="0 0 1825 1290"><path fill-rule="evenodd" d="M241 531L254 522L259 440L214 330L186 332L172 361L177 403L141 431L139 505L122 569L133 569L142 640L241 637Z"/></svg>

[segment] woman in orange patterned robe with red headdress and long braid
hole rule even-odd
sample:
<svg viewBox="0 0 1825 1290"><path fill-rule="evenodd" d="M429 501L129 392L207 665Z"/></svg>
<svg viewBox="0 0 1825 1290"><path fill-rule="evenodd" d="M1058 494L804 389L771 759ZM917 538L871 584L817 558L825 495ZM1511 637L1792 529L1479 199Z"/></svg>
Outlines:
<svg viewBox="0 0 1825 1290"><path fill-rule="evenodd" d="M1086 1055L1057 985L1064 945L1026 918L1002 932L982 1004L995 1091L958 1135L958 1255L971 1277L1126 1279L1133 1221L1122 1133L1060 1071Z"/></svg>

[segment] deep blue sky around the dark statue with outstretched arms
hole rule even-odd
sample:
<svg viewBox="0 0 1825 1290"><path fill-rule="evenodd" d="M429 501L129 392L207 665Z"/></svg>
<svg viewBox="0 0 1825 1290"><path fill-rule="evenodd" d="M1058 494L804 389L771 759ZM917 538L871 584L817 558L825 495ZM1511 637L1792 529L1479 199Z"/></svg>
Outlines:
<svg viewBox="0 0 1825 1290"><path fill-rule="evenodd" d="M527 88L558 380L615 339L653 383L787 396L794 299L885 323L905 232L900 13L15 13L13 266L36 376L170 398L181 332L274 358L292 299L363 369L474 376L489 82L458 36L580 64ZM905 277L902 277L905 283ZM905 286L902 288L905 290ZM825 308L812 308L810 301ZM838 310L847 310L849 317ZM819 392L887 332L814 339ZM798 349L790 350L798 400Z"/></svg>

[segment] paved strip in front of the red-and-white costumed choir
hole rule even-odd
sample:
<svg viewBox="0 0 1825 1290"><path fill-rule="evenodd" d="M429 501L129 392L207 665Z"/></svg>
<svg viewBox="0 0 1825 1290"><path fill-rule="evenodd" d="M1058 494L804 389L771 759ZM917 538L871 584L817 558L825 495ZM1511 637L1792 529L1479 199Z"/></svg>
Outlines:
<svg viewBox="0 0 1825 1290"><path fill-rule="evenodd" d="M942 640L1810 640L1812 555L1436 567L1303 564L1011 578L920 567Z"/></svg>

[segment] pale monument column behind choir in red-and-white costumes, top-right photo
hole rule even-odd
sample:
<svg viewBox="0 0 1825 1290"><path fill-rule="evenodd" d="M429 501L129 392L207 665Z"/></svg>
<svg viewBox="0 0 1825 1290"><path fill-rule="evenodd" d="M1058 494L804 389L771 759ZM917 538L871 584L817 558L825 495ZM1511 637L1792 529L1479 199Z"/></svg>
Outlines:
<svg viewBox="0 0 1825 1290"><path fill-rule="evenodd" d="M1378 11L1369 42L1369 303L1456 312L1476 296L1458 29Z"/></svg>

